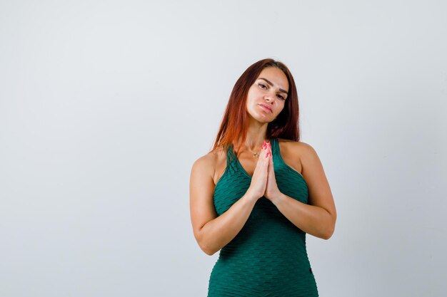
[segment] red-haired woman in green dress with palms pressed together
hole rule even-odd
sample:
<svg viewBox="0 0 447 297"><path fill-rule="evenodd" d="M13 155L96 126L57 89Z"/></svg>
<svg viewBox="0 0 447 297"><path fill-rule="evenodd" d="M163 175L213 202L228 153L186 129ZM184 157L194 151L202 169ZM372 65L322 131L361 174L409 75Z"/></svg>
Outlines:
<svg viewBox="0 0 447 297"><path fill-rule="evenodd" d="M329 239L336 207L323 166L300 142L298 95L273 59L236 81L208 154L191 169L194 236L219 252L208 296L318 296L306 234Z"/></svg>

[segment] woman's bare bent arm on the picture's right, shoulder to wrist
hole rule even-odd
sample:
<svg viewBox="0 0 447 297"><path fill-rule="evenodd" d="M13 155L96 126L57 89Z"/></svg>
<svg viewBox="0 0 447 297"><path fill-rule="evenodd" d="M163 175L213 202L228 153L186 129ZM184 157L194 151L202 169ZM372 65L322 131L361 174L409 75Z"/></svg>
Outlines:
<svg viewBox="0 0 447 297"><path fill-rule="evenodd" d="M300 143L302 153L299 160L303 168L302 175L308 185L308 204L282 193L271 201L299 229L313 236L329 239L335 229L337 217L331 188L316 151L311 145Z"/></svg>

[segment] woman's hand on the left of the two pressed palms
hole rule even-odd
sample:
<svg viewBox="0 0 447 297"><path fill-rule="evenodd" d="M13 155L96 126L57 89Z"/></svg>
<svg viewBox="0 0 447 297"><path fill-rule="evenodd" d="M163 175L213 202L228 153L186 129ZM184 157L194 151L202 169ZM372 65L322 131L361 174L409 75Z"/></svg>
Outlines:
<svg viewBox="0 0 447 297"><path fill-rule="evenodd" d="M247 194L252 199L258 200L263 197L266 192L267 177L268 177L268 162L271 158L271 146L264 142L261 152L259 153L258 162L251 177L251 184L248 187Z"/></svg>

